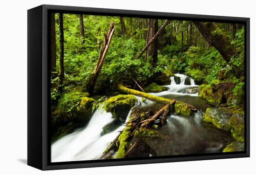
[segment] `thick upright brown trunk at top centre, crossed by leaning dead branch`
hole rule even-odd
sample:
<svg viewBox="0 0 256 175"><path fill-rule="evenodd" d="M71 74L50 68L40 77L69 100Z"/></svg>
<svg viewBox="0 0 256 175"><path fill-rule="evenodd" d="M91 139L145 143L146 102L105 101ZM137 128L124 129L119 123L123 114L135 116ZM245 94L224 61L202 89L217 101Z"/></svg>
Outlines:
<svg viewBox="0 0 256 175"><path fill-rule="evenodd" d="M148 23L148 39L147 43L155 36L156 32L158 31L158 19L149 19ZM146 51L147 57L145 60L147 60L148 56L152 56L151 64L155 65L157 62L157 38L153 41L153 43L148 47Z"/></svg>

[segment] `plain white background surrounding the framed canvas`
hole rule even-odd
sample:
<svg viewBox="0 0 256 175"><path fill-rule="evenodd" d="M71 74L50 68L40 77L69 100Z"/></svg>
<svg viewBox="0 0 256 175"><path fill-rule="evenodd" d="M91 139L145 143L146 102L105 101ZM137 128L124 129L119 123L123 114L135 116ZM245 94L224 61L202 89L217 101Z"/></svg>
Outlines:
<svg viewBox="0 0 256 175"><path fill-rule="evenodd" d="M27 161L27 9L41 4L249 17L251 63L251 157L89 169L40 171ZM1 175L241 175L256 173L255 24L253 0L1 0L0 1Z"/></svg>

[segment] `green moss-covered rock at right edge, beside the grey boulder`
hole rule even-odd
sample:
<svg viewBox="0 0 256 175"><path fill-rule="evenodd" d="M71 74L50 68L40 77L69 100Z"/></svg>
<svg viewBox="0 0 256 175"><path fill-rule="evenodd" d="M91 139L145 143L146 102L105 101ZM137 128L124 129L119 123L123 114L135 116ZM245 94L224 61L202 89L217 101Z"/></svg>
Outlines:
<svg viewBox="0 0 256 175"><path fill-rule="evenodd" d="M232 137L239 142L244 142L244 119L240 115L232 115L229 119Z"/></svg>

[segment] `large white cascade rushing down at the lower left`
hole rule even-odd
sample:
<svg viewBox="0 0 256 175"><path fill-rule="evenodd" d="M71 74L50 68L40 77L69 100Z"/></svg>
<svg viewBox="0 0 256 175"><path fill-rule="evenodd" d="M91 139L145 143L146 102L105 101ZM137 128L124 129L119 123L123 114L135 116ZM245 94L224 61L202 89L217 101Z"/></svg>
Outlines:
<svg viewBox="0 0 256 175"><path fill-rule="evenodd" d="M152 101L142 103L141 97L137 97L138 105L148 105ZM131 114L128 113L127 119ZM104 150L117 137L119 131L124 129L124 125L119 126L115 131L101 136L103 127L114 121L111 113L107 113L103 107L99 107L92 115L88 125L79 131L75 131L57 140L51 146L52 162L66 162L79 160L94 160L103 155Z"/></svg>

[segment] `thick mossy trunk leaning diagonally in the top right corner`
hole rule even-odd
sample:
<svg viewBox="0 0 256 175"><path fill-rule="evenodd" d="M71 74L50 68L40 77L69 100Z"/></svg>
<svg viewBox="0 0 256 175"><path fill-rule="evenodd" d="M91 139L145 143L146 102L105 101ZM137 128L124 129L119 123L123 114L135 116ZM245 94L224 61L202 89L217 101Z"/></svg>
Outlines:
<svg viewBox="0 0 256 175"><path fill-rule="evenodd" d="M227 35L222 32L214 32L218 30L218 26L213 22L196 22L194 24L202 33L202 36L220 52L226 63L229 63L232 56L237 54L236 48L231 44ZM240 74L236 71L236 65L232 65L236 78L240 78Z"/></svg>

